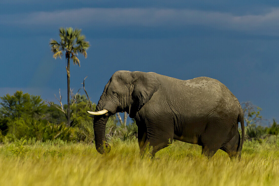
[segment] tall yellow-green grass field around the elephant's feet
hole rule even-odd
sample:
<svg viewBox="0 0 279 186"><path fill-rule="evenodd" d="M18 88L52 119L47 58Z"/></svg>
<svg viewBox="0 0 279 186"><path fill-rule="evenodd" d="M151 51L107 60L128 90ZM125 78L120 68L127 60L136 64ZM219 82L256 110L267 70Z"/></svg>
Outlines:
<svg viewBox="0 0 279 186"><path fill-rule="evenodd" d="M274 136L275 137L275 136ZM140 158L136 139L94 144L26 142L0 146L1 185L278 185L279 140L245 142L241 161L219 150L208 161L201 147L175 141L155 159Z"/></svg>

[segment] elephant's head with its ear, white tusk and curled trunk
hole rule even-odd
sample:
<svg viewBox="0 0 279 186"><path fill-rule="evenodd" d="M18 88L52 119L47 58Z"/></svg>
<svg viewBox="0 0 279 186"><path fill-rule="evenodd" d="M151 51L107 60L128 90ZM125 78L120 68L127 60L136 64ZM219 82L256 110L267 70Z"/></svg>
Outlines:
<svg viewBox="0 0 279 186"><path fill-rule="evenodd" d="M105 141L105 126L110 115L127 112L134 118L141 107L148 102L160 83L152 73L140 71L117 71L105 85L103 94L98 101L93 120L96 149L100 154L110 151Z"/></svg>

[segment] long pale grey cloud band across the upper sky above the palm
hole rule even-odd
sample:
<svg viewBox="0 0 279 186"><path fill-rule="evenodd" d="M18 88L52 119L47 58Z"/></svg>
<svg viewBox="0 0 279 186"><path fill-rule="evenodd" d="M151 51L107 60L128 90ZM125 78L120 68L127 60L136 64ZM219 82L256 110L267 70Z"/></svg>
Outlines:
<svg viewBox="0 0 279 186"><path fill-rule="evenodd" d="M259 15L236 16L218 11L160 8L81 8L53 12L2 15L1 25L48 27L75 25L82 28L112 29L145 27L184 29L199 26L248 34L279 35L279 8Z"/></svg>

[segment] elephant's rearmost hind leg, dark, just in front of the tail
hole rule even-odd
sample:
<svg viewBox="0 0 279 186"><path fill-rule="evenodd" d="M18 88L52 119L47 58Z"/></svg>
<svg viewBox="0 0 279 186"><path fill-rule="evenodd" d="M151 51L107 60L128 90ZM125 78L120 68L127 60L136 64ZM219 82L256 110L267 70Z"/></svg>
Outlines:
<svg viewBox="0 0 279 186"><path fill-rule="evenodd" d="M240 156L240 134L237 131L234 137L227 142L221 150L228 153L230 159L234 159L236 156Z"/></svg>

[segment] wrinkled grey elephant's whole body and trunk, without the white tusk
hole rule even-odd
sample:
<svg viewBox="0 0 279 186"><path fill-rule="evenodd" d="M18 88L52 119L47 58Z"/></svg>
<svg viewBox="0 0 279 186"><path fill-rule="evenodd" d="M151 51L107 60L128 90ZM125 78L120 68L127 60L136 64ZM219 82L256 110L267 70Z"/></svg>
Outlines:
<svg viewBox="0 0 279 186"><path fill-rule="evenodd" d="M126 111L138 126L141 152L149 142L152 155L167 147L169 139L198 144L202 154L211 157L218 149L230 158L238 155L240 144L238 122L244 137L243 111L237 98L216 79L198 77L179 80L154 72L117 71L105 85L95 116L96 149L109 151L104 145L105 125L110 115Z"/></svg>

